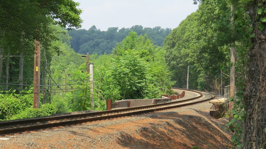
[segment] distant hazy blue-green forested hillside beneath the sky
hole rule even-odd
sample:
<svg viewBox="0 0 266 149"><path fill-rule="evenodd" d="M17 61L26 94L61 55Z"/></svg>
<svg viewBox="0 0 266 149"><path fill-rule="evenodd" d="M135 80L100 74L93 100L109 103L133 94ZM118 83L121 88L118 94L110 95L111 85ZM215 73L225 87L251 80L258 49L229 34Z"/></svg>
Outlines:
<svg viewBox="0 0 266 149"><path fill-rule="evenodd" d="M113 47L118 42L121 42L133 30L140 34L148 34L154 41L154 45L163 46L165 37L171 32L171 28L163 29L161 27L143 28L141 25L135 25L131 28L110 27L107 31L101 31L93 25L89 30L86 29L73 29L68 31L69 36L72 37L70 43L73 49L80 53L85 54L107 54L111 53Z"/></svg>

